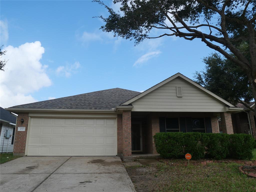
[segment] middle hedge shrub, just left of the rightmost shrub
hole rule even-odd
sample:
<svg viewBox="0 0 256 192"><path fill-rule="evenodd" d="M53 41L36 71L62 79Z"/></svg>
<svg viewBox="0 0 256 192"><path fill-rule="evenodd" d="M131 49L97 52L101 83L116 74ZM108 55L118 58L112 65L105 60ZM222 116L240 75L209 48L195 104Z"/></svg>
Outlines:
<svg viewBox="0 0 256 192"><path fill-rule="evenodd" d="M225 159L228 154L229 135L219 133L208 133L209 142L206 153L214 159Z"/></svg>

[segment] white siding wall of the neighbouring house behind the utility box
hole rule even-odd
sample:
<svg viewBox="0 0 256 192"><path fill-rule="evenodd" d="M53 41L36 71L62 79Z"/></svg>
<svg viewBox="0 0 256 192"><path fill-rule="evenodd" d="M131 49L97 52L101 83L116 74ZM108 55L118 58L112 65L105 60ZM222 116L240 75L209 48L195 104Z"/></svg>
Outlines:
<svg viewBox="0 0 256 192"><path fill-rule="evenodd" d="M14 125L10 125L9 123L3 123L1 137L0 137L0 153L2 153L2 150L3 150L3 153L6 153L7 143L8 143L8 153L13 152L13 145L11 145L12 137L10 137L10 138L4 137L4 133L5 133L6 129L7 130L9 129L10 134L13 134L13 127L14 127Z"/></svg>

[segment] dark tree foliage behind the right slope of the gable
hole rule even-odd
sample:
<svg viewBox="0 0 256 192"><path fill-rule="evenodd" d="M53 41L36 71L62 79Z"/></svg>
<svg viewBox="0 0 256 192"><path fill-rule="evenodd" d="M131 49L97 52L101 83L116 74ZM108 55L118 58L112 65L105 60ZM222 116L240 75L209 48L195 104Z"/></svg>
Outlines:
<svg viewBox="0 0 256 192"><path fill-rule="evenodd" d="M233 105L246 105L253 99L251 83L239 66L217 53L203 61L205 69L195 72L197 83Z"/></svg>

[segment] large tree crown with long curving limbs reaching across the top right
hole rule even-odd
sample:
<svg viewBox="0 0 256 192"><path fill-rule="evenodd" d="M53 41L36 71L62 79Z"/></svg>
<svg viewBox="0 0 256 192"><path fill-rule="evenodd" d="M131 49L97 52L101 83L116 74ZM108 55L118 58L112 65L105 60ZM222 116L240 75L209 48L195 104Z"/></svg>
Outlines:
<svg viewBox="0 0 256 192"><path fill-rule="evenodd" d="M100 16L105 22L101 29L113 32L114 36L134 39L135 45L144 39L164 36L199 38L244 71L256 100L256 0L114 0L121 4L122 13L100 0L95 1L109 12L106 18ZM152 36L152 29L159 35ZM249 46L247 53L241 50L242 44Z"/></svg>

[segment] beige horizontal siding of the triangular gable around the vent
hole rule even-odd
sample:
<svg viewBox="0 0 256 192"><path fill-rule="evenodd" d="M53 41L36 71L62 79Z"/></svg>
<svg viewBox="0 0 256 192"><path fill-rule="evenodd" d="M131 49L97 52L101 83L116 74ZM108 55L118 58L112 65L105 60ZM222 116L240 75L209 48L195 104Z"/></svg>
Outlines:
<svg viewBox="0 0 256 192"><path fill-rule="evenodd" d="M177 97L176 86L182 87L182 96ZM132 102L132 111L169 112L223 112L225 105L208 94L176 78L158 89Z"/></svg>

